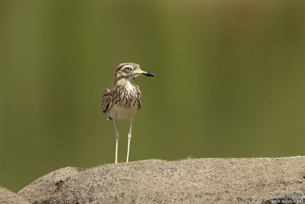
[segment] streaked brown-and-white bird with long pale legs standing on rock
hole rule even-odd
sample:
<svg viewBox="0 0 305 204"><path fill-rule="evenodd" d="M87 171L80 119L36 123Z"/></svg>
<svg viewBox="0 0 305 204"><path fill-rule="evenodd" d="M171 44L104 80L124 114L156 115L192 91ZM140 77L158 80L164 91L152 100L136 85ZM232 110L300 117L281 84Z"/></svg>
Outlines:
<svg viewBox="0 0 305 204"><path fill-rule="evenodd" d="M115 163L117 163L117 149L119 132L117 130L117 120L129 119L129 132L127 135L127 158L128 163L129 146L131 139L131 126L135 113L141 108L142 94L140 88L132 80L138 76L156 76L153 73L142 71L140 65L136 63L122 63L117 66L114 73L113 85L107 87L102 98L102 110L113 120L116 138Z"/></svg>

